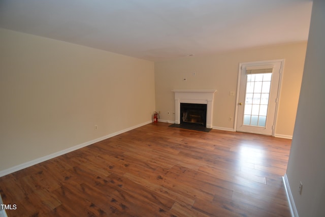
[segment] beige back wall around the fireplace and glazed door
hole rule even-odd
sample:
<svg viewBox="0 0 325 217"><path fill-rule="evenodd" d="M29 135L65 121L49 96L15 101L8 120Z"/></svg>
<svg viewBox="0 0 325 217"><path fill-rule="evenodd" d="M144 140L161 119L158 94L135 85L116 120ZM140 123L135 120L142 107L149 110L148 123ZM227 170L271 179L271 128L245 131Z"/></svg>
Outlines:
<svg viewBox="0 0 325 217"><path fill-rule="evenodd" d="M172 89L217 89L212 125L219 129L234 129L234 121L230 122L229 117L235 117L236 96L229 96L229 91L237 92L239 63L285 59L275 134L292 136L306 46L306 42L301 42L155 63L156 110L161 112L161 119L174 121ZM193 72L196 72L195 76ZM183 81L184 77L187 81Z"/></svg>

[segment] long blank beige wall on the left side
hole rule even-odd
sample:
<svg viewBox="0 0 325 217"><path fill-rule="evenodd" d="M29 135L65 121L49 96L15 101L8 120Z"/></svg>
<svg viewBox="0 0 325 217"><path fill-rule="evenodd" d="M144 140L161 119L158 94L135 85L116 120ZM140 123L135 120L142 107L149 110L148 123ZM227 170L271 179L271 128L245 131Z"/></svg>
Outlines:
<svg viewBox="0 0 325 217"><path fill-rule="evenodd" d="M151 121L154 97L153 62L0 29L0 172Z"/></svg>

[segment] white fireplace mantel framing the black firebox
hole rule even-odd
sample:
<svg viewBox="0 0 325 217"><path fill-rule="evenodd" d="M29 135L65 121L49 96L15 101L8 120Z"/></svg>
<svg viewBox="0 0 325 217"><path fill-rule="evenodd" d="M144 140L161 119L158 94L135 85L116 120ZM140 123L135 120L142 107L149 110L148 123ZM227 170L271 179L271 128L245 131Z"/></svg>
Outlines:
<svg viewBox="0 0 325 217"><path fill-rule="evenodd" d="M180 123L181 103L207 104L207 125L212 128L213 96L216 89L174 89L175 123Z"/></svg>

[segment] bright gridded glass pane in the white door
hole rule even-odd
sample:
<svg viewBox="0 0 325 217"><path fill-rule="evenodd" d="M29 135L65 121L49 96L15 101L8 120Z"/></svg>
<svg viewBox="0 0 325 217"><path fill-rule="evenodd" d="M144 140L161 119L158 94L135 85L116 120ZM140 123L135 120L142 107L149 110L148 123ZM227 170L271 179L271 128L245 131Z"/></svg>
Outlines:
<svg viewBox="0 0 325 217"><path fill-rule="evenodd" d="M265 127L272 73L248 74L243 125Z"/></svg>

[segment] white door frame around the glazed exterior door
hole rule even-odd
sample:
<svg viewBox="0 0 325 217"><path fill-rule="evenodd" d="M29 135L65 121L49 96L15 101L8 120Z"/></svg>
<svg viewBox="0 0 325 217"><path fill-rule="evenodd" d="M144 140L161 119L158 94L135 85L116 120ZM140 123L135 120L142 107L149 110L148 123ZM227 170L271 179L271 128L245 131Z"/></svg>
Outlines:
<svg viewBox="0 0 325 217"><path fill-rule="evenodd" d="M239 92L240 92L240 83L241 83L241 74L242 74L242 66L243 65L249 65L249 64L265 64L270 65L273 62L281 62L280 66L280 75L279 75L279 85L277 89L277 102L275 105L275 114L274 114L274 121L273 121L273 127L272 127L272 136L275 135L276 130L276 121L278 118L278 108L280 103L280 93L281 93L281 87L282 87L282 74L283 74L283 68L284 68L284 59L272 59L272 60L263 60L263 61L252 61L252 62L245 62L245 63L239 63L238 68L238 81L237 81L237 96L236 96L236 108L235 108L235 118L234 118L234 130L237 132L237 117L238 117L238 107L239 107Z"/></svg>

